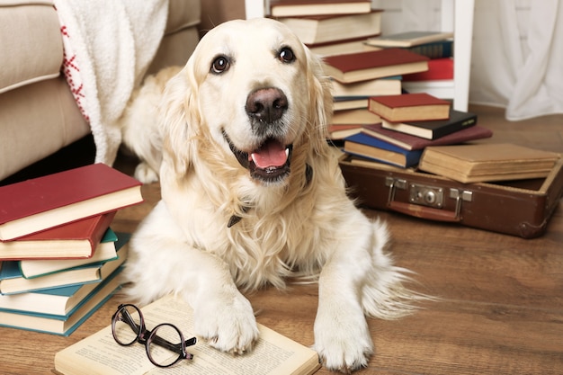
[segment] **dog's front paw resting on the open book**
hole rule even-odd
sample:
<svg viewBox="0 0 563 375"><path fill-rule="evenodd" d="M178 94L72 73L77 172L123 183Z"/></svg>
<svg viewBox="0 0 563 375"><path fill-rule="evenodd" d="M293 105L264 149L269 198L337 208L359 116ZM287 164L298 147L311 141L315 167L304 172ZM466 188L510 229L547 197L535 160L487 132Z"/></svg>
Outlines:
<svg viewBox="0 0 563 375"><path fill-rule="evenodd" d="M195 310L197 335L222 352L242 354L252 349L259 332L248 299L238 294L229 299L207 299Z"/></svg>

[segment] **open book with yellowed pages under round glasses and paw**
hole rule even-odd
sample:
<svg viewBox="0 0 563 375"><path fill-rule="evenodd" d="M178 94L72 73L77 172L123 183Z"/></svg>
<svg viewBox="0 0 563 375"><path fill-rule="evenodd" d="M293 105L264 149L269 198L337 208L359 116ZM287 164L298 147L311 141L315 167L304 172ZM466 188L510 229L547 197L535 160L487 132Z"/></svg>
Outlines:
<svg viewBox="0 0 563 375"><path fill-rule="evenodd" d="M177 326L186 338L194 335L193 310L182 299L166 296L141 311L148 329L166 322ZM320 368L317 352L266 326L258 325L258 329L260 337L250 352L242 355L222 353L201 339L188 348L193 354L192 360L178 362L165 371L194 375L308 375ZM123 375L130 374L132 367L139 375L164 373L148 361L144 345L125 347L115 343L112 326L106 326L55 355L55 371L64 375L84 374L84 369L93 375Z"/></svg>

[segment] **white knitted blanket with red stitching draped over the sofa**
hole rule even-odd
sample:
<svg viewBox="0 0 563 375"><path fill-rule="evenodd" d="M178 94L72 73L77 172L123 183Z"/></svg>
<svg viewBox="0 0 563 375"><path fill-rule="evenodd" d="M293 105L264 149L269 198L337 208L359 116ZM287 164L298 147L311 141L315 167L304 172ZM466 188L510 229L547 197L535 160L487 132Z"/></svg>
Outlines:
<svg viewBox="0 0 563 375"><path fill-rule="evenodd" d="M65 50L64 73L90 123L96 163L112 165L116 124L163 38L168 0L54 0Z"/></svg>

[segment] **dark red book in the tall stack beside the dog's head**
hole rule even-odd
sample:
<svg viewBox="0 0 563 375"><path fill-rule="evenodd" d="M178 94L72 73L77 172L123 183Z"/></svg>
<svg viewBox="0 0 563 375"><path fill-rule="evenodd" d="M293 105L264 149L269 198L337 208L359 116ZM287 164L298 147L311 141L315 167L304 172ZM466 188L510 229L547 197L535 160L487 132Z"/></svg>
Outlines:
<svg viewBox="0 0 563 375"><path fill-rule="evenodd" d="M326 56L325 72L344 84L428 70L428 60L407 49L380 49Z"/></svg>

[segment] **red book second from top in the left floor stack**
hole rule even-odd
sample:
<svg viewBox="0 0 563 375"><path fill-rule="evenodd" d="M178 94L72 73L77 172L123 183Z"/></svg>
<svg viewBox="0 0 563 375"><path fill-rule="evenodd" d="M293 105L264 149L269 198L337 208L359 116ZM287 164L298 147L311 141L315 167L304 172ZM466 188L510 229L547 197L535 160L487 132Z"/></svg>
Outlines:
<svg viewBox="0 0 563 375"><path fill-rule="evenodd" d="M110 227L115 211L0 242L0 259L90 258Z"/></svg>

